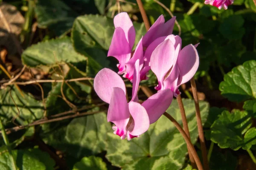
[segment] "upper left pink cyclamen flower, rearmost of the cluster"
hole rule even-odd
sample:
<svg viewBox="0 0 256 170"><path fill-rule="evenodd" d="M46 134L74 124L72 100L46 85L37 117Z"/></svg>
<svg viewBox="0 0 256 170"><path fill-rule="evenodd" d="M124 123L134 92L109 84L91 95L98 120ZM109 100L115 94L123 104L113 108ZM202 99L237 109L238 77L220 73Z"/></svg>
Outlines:
<svg viewBox="0 0 256 170"><path fill-rule="evenodd" d="M118 74L124 74L123 77L133 80L133 68L135 61L140 59L140 80L146 79L146 74L150 70L149 61L143 59L143 49L158 37L172 34L175 23L175 17L165 23L163 15L151 26L144 37L137 44L134 54L132 48L135 41L135 29L133 23L126 12L121 12L114 17L115 31L108 51L108 57L113 56L118 61ZM144 61L145 60L145 61Z"/></svg>

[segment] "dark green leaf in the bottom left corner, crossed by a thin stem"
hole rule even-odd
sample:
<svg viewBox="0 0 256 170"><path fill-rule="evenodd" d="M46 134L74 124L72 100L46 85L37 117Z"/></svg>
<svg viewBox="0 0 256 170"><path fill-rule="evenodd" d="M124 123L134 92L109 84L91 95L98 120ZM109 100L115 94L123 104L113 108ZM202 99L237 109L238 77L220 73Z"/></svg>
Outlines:
<svg viewBox="0 0 256 170"><path fill-rule="evenodd" d="M13 150L12 153L20 170L54 170L55 161L41 150ZM8 152L0 154L0 169L12 170Z"/></svg>

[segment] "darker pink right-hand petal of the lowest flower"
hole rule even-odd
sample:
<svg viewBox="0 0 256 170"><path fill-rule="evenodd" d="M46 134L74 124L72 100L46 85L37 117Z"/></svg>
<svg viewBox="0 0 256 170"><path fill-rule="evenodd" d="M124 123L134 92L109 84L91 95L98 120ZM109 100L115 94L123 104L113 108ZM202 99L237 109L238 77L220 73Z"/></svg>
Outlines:
<svg viewBox="0 0 256 170"><path fill-rule="evenodd" d="M169 108L172 103L173 94L170 89L158 91L150 96L142 106L146 109L149 117L149 123L156 122L160 116Z"/></svg>

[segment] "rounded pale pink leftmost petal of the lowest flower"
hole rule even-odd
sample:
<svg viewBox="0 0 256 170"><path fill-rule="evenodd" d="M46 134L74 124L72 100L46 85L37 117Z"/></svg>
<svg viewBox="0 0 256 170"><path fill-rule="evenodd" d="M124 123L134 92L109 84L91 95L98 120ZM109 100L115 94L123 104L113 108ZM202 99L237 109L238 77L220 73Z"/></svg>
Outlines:
<svg viewBox="0 0 256 170"><path fill-rule="evenodd" d="M109 68L103 68L94 78L94 90L104 102L110 103L113 88L121 88L126 94L122 78Z"/></svg>

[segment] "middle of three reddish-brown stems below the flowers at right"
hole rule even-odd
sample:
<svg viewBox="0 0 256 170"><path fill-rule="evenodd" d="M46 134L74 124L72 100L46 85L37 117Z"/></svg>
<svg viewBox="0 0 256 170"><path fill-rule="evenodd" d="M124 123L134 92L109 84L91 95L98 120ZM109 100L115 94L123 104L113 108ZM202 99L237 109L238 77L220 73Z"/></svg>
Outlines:
<svg viewBox="0 0 256 170"><path fill-rule="evenodd" d="M180 108L180 114L181 114L181 118L182 118L183 129L184 129L186 135L188 136L189 141L191 141L190 135L189 135L189 126L188 126L188 122L187 122L187 119L186 119L186 113L185 113L184 105L183 105L180 94L177 96L177 102L178 102L178 105L179 105L179 108ZM193 169L195 169L196 168L195 160L192 156L191 150L190 150L188 145L187 145L187 148L188 148L189 159L191 161L191 165L192 165Z"/></svg>

